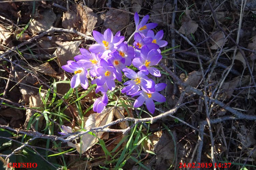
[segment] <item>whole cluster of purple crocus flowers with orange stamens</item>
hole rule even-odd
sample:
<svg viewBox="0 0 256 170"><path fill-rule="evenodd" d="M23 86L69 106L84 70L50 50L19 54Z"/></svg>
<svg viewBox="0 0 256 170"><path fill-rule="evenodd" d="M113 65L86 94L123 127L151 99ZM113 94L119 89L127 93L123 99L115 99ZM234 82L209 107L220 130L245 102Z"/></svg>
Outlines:
<svg viewBox="0 0 256 170"><path fill-rule="evenodd" d="M149 112L154 113L155 105L153 100L165 102L165 97L159 91L165 89L165 83L155 84L148 74L160 77L160 71L154 67L162 59L159 48L167 45L167 41L162 40L163 31L156 34L150 29L154 29L156 23L147 23L149 16L145 16L139 22L139 16L135 13L134 20L136 30L134 32L133 46L124 41L124 36L120 36L120 31L114 36L110 29L104 35L93 31L93 38L97 42L90 46L89 51L80 49L81 55L75 56L75 61L67 61L67 65L62 68L75 75L71 79L71 87L75 88L79 84L84 89L88 88L88 72L92 77L92 84L97 84L95 92L101 92L102 97L97 98L93 104L93 110L101 113L108 103L107 91L113 91L116 87L115 79L122 81L122 72L131 79L126 81L127 85L122 89L122 93L139 96L134 107L140 107L146 102ZM132 35L132 36L133 36ZM133 64L139 71L136 73L127 68Z"/></svg>

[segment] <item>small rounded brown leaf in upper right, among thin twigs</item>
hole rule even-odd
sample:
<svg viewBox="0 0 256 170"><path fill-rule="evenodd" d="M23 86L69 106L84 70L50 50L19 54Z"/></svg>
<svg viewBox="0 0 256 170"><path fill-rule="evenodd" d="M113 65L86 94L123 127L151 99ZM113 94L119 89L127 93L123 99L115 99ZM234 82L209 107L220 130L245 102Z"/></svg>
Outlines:
<svg viewBox="0 0 256 170"><path fill-rule="evenodd" d="M212 39L214 40L214 41L210 40L210 42L212 44L212 46L210 48L212 50L219 49L227 41L226 36L224 35L224 33L222 31L213 32L212 35L213 35Z"/></svg>

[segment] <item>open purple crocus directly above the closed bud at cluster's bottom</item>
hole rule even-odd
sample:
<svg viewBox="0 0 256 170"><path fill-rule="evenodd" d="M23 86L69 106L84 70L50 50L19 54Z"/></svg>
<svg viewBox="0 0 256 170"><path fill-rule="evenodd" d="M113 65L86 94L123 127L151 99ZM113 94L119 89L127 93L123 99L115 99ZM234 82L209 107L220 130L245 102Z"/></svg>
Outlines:
<svg viewBox="0 0 256 170"><path fill-rule="evenodd" d="M116 69L113 66L109 66L107 61L104 59L100 60L100 67L97 68L97 80L96 84L98 86L103 86L105 83L109 90L113 91L116 87L115 79L116 79Z"/></svg>

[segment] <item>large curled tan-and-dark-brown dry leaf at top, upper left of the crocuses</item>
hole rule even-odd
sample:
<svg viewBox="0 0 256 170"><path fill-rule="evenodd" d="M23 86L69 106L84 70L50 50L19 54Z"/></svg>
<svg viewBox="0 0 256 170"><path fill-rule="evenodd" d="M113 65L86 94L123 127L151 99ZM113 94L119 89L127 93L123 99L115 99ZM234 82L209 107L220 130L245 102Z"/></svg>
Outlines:
<svg viewBox="0 0 256 170"><path fill-rule="evenodd" d="M65 29L74 28L82 33L91 33L97 23L97 14L92 9L82 5L72 5L70 11L63 13L62 26Z"/></svg>

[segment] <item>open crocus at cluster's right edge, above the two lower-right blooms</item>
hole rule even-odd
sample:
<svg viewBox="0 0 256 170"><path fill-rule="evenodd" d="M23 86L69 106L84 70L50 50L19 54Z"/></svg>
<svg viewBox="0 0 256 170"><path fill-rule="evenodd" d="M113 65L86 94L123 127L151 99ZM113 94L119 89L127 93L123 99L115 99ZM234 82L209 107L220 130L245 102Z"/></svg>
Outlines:
<svg viewBox="0 0 256 170"><path fill-rule="evenodd" d="M149 50L149 48L144 45L140 50L140 57L134 58L132 63L139 70L148 70L150 74L160 77L161 73L157 68L152 67L159 63L162 59L162 55L155 49Z"/></svg>

